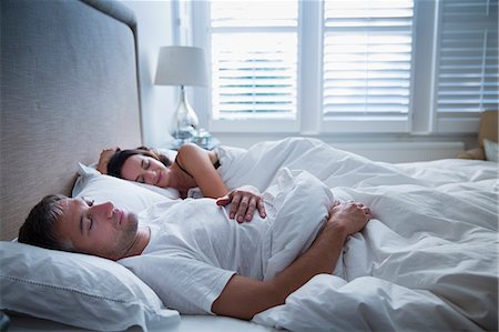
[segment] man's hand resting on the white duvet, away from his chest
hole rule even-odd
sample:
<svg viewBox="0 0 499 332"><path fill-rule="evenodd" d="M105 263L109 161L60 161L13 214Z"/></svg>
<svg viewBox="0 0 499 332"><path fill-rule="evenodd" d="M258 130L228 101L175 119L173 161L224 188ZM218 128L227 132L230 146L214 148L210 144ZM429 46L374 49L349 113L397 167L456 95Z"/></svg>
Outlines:
<svg viewBox="0 0 499 332"><path fill-rule="evenodd" d="M334 223L336 227L340 227L348 237L360 232L371 217L370 209L363 203L337 201L329 211L326 228Z"/></svg>

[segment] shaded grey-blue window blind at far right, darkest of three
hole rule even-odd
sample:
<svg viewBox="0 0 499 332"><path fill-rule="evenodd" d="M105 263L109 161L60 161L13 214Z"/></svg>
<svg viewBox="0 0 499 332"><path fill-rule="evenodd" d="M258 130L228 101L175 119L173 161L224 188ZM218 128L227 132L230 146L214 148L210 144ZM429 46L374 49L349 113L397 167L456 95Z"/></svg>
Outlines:
<svg viewBox="0 0 499 332"><path fill-rule="evenodd" d="M498 109L498 1L441 1L437 111Z"/></svg>

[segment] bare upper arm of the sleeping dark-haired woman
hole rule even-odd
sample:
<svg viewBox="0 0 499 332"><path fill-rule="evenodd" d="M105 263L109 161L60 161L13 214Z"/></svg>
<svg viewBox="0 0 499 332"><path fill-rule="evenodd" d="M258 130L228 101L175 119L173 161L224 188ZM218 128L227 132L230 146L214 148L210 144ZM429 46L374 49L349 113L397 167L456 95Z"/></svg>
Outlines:
<svg viewBox="0 0 499 332"><path fill-rule="evenodd" d="M205 198L217 199L227 194L227 189L213 167L210 152L187 143L179 149L177 162L195 180Z"/></svg>

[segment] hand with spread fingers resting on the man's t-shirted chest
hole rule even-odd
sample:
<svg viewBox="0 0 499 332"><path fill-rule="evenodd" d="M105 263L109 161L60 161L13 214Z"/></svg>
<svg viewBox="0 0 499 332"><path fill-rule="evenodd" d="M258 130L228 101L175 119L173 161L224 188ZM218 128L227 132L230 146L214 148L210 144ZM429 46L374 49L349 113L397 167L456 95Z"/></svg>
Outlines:
<svg viewBox="0 0 499 332"><path fill-rule="evenodd" d="M228 217L236 219L238 223L251 221L253 213L258 210L259 217L265 218L265 207L262 195L253 187L241 187L228 192L223 198L216 200L218 207L231 204Z"/></svg>

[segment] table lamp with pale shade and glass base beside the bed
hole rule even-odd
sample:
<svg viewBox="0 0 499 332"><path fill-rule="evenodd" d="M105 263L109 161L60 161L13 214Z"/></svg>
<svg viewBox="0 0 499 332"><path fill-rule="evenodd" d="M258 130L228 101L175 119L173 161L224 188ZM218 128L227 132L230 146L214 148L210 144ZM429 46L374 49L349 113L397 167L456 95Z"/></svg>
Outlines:
<svg viewBox="0 0 499 332"><path fill-rule="evenodd" d="M194 47L162 47L157 59L156 85L180 85L173 137L189 141L197 130L197 115L185 97L184 85L207 85L204 50Z"/></svg>

